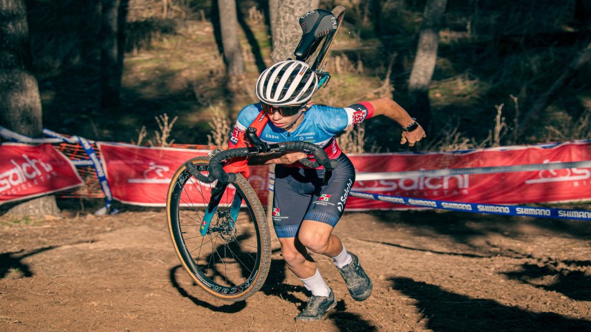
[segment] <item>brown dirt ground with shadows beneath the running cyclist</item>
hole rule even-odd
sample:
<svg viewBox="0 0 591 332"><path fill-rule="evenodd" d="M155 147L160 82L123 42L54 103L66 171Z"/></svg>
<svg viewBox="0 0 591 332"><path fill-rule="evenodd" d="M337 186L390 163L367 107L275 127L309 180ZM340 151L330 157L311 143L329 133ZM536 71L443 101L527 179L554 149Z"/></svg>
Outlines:
<svg viewBox="0 0 591 332"><path fill-rule="evenodd" d="M274 237L268 280L245 302L193 284L163 211L0 224L0 331L591 331L591 224L443 211L346 213L335 229L374 282L323 322Z"/></svg>

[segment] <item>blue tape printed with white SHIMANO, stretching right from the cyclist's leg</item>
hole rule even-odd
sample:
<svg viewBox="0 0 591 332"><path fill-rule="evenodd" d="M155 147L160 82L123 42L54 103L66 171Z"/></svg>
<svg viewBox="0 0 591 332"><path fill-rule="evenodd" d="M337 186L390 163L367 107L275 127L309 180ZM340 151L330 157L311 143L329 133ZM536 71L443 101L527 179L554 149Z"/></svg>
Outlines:
<svg viewBox="0 0 591 332"><path fill-rule="evenodd" d="M584 210L567 210L563 208L533 208L531 206L518 205L448 202L439 201L435 199L362 193L359 191L350 191L349 195L359 198L375 199L382 202L420 206L422 208L442 208L444 210L471 213L491 213L494 215L519 215L522 217L543 217L591 221L591 211Z"/></svg>

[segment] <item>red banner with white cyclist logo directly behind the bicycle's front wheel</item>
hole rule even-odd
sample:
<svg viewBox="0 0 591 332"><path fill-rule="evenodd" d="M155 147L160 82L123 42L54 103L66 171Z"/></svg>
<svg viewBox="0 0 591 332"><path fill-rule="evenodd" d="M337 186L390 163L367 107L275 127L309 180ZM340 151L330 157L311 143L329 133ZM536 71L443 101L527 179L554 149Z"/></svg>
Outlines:
<svg viewBox="0 0 591 332"><path fill-rule="evenodd" d="M113 198L141 206L165 206L171 178L188 159L207 155L209 150L147 148L130 144L98 143ZM267 203L268 166L251 168L249 182ZM198 197L191 197L194 204ZM227 202L222 202L227 203Z"/></svg>

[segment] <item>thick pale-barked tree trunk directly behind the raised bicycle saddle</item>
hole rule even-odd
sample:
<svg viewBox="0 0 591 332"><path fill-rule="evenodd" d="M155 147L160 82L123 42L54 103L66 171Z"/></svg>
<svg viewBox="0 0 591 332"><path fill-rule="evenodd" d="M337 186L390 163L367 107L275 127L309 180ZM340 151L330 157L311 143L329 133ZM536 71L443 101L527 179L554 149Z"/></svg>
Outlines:
<svg viewBox="0 0 591 332"><path fill-rule="evenodd" d="M269 0L273 51L271 59L279 62L294 59L294 50L301 38L299 18L318 9L319 0ZM330 11L332 8L325 8Z"/></svg>

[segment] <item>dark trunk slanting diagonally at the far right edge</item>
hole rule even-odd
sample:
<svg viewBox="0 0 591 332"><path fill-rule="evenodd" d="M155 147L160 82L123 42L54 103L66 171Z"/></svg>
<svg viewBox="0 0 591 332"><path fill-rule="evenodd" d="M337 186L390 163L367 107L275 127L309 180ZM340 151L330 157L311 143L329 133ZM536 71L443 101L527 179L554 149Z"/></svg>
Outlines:
<svg viewBox="0 0 591 332"><path fill-rule="evenodd" d="M591 43L588 44L578 55L572 60L572 62L565 68L562 75L554 81L554 84L540 97L536 99L534 106L525 114L523 121L519 125L518 136L521 137L527 131L529 126L535 124L539 119L541 113L545 108L556 99L559 92L569 84L574 78L577 72L581 70L585 64L591 60Z"/></svg>

